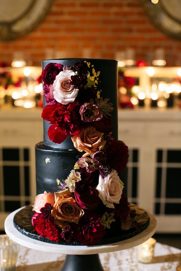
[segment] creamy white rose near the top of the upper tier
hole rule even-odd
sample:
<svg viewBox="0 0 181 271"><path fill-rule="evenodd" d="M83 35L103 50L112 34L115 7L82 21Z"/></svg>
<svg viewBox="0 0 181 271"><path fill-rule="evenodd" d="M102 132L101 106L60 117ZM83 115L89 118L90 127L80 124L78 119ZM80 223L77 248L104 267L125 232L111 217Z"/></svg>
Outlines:
<svg viewBox="0 0 181 271"><path fill-rule="evenodd" d="M63 70L53 82L53 96L61 104L73 102L78 94L78 89L70 85L71 76L75 75L72 70Z"/></svg>

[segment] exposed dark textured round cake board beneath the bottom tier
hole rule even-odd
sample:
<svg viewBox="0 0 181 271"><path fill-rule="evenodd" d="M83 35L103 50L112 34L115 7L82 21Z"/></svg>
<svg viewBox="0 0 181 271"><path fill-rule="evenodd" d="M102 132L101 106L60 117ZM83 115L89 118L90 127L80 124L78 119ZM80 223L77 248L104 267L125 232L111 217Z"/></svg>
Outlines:
<svg viewBox="0 0 181 271"><path fill-rule="evenodd" d="M137 207L139 208L139 207ZM148 216L148 214L141 208L141 213L144 213ZM32 211L32 206L28 205L24 207L22 210L17 212L14 216L14 226L15 228L21 232L22 234L26 235L27 237L33 238L35 240L39 240L42 242L46 243L51 243L51 244L58 244L58 245L81 245L79 242L65 242L65 241L59 241L55 243L54 241L49 240L48 238L44 238L40 235L37 234L36 230L33 228L31 224L31 218L33 216L34 212ZM100 243L96 243L96 245L104 245L104 244L111 244L119 241L123 241L129 238L132 238L133 236L137 235L138 233L142 232L144 229L146 229L149 225L149 218L147 222L145 222L139 230L136 230L135 228L132 228L128 231L120 231L116 232L114 237L110 238L103 238Z"/></svg>

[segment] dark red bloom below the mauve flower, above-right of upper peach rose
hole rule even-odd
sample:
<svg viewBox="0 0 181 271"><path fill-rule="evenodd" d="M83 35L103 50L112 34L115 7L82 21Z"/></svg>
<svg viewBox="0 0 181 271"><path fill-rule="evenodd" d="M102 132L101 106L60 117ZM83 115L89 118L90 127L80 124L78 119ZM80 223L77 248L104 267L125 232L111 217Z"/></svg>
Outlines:
<svg viewBox="0 0 181 271"><path fill-rule="evenodd" d="M104 134L109 134L113 131L113 118L112 116L103 116L101 120L94 121L91 123L91 125L94 126L97 131Z"/></svg>

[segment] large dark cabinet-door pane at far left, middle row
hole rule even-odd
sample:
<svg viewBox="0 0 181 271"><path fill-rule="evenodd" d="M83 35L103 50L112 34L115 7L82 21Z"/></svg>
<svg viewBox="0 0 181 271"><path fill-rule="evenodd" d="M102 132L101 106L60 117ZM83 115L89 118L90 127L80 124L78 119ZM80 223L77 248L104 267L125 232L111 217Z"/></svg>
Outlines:
<svg viewBox="0 0 181 271"><path fill-rule="evenodd" d="M19 196L20 195L20 172L17 166L4 166L4 195Z"/></svg>

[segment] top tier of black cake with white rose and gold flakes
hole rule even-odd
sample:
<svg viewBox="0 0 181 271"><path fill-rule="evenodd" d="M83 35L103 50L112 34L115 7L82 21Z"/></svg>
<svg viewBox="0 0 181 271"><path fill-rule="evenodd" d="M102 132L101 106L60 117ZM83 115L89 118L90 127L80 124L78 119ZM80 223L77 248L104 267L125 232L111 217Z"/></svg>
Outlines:
<svg viewBox="0 0 181 271"><path fill-rule="evenodd" d="M50 59L42 69L44 145L72 149L88 127L118 139L117 61Z"/></svg>

